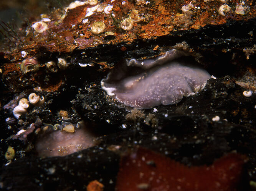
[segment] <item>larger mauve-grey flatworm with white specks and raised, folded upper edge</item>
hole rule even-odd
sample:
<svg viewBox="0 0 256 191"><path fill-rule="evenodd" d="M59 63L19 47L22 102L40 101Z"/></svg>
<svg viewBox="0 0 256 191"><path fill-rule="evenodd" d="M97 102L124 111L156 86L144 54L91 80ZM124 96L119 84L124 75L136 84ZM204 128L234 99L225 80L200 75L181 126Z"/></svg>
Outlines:
<svg viewBox="0 0 256 191"><path fill-rule="evenodd" d="M119 102L139 109L177 104L183 96L200 92L211 78L203 69L175 61L186 55L172 49L155 59L126 60L102 79L101 87Z"/></svg>

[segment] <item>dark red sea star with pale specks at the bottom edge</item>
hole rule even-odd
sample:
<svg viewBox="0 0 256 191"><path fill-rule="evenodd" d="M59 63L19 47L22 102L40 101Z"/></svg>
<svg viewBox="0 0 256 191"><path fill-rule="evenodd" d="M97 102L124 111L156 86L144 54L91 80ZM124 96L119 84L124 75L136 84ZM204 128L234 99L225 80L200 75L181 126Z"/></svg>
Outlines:
<svg viewBox="0 0 256 191"><path fill-rule="evenodd" d="M163 155L138 148L120 162L117 191L234 191L244 187L245 157L231 153L210 166L187 167Z"/></svg>

